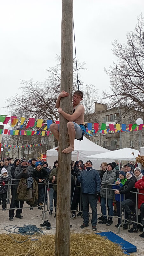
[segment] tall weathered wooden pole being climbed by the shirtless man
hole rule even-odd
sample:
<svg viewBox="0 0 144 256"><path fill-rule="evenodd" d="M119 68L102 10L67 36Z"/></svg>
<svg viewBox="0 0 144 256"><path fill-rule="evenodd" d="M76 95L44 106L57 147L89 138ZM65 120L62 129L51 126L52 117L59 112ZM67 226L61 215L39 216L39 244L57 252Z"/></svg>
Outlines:
<svg viewBox="0 0 144 256"><path fill-rule="evenodd" d="M60 107L69 114L72 113L72 54L72 0L62 0L61 91L69 92L70 96L61 98ZM69 145L67 120L60 115L55 256L70 255L71 153L62 153Z"/></svg>

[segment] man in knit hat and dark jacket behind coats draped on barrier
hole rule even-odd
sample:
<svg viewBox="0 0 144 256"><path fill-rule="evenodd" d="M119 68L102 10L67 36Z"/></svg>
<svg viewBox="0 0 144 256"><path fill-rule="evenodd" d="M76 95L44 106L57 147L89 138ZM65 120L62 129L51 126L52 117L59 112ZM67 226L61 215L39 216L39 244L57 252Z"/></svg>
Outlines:
<svg viewBox="0 0 144 256"><path fill-rule="evenodd" d="M17 195L17 187L18 187L19 180L21 178L27 179L31 176L31 172L27 171L26 159L21 159L21 163L19 166L16 167L14 175L15 175L14 184L17 184L17 185L13 185L13 192L12 192L10 208L15 208L16 205L19 204L19 202L17 200L15 200L16 195ZM24 205L24 202L20 201L20 208L22 208L23 205ZM9 210L9 217L10 217L9 220L13 221L14 215L16 218L22 219L23 216L21 215L21 213L22 213L22 209L17 209L16 215L15 215L15 210L10 209Z"/></svg>

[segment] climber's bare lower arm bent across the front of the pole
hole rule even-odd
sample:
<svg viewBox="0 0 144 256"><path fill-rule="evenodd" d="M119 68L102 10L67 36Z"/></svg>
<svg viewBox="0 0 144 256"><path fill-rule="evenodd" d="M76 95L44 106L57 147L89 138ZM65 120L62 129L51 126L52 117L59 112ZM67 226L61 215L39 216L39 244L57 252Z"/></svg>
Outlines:
<svg viewBox="0 0 144 256"><path fill-rule="evenodd" d="M72 115L65 113L65 112L62 110L62 108L58 108L58 113L61 113L62 116L63 116L66 120L68 120L68 121L75 121L76 119L78 119L78 117L79 117L82 113L84 113L84 111L85 111L85 108L84 108L83 105L78 106L78 108L75 110L75 112L74 112Z"/></svg>

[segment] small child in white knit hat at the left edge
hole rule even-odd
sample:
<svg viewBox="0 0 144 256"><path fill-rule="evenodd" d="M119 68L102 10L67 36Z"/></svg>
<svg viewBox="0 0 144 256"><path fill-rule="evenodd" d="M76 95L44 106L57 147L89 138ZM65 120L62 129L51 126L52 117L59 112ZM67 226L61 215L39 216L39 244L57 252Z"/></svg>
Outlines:
<svg viewBox="0 0 144 256"><path fill-rule="evenodd" d="M10 177L8 175L8 171L3 167L1 174L0 174L0 200L2 199L2 207L3 207L3 211L5 211L5 207L6 207L6 200L7 200L7 190L8 190L8 186L5 184L8 183L8 181L10 181Z"/></svg>

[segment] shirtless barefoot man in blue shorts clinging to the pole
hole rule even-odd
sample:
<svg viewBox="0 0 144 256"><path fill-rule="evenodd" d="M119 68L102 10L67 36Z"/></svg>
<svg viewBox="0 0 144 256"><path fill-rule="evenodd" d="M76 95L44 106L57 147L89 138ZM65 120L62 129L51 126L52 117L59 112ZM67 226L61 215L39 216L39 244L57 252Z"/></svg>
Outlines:
<svg viewBox="0 0 144 256"><path fill-rule="evenodd" d="M73 94L73 112L72 115L65 113L62 108L59 107L60 105L60 99L62 97L69 96L68 92L62 91L58 99L56 101L56 108L58 108L58 113L60 113L67 122L67 129L68 134L70 137L70 146L68 148L65 148L62 152L65 154L68 154L74 150L74 139L82 140L83 134L86 132L86 126L84 125L84 112L85 108L80 103L83 98L82 91L75 91ZM59 139L59 125L58 124L51 124L50 130L52 134L55 136L55 138ZM58 148L56 148L58 151Z"/></svg>

